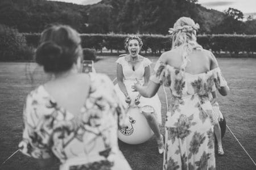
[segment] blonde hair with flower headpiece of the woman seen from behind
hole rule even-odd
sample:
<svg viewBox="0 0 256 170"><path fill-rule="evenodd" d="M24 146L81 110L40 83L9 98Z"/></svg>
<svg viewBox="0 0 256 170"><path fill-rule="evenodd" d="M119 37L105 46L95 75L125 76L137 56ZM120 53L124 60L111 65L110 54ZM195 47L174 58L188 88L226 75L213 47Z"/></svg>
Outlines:
<svg viewBox="0 0 256 170"><path fill-rule="evenodd" d="M188 17L179 18L175 22L174 28L169 29L169 33L172 35L172 49L182 46L187 54L195 48L203 49L196 42L196 31L199 28L199 24L196 24L193 19Z"/></svg>

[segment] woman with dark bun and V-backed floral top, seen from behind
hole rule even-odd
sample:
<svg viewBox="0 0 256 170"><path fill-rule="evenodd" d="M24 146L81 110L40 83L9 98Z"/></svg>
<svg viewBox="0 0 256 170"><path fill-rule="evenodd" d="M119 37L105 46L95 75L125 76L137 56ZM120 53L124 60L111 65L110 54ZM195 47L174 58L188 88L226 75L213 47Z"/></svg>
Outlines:
<svg viewBox="0 0 256 170"><path fill-rule="evenodd" d="M117 141L125 107L108 76L79 73L80 42L67 25L43 31L36 62L53 78L27 96L20 151L44 168L58 160L63 170L131 169Z"/></svg>

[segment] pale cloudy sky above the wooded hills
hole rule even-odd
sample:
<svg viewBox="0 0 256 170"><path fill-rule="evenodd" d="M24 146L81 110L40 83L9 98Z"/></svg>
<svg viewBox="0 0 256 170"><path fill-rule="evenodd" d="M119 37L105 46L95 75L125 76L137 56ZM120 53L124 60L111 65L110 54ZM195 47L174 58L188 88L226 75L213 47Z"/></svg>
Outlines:
<svg viewBox="0 0 256 170"><path fill-rule="evenodd" d="M51 0L53 1L53 0ZM101 0L56 0L62 2L72 2L81 5L89 5L93 3L98 3ZM125 1L125 0L123 0ZM156 0L158 1L158 0ZM256 19L256 0L198 0L202 6L207 8L212 8L214 10L218 10L223 12L224 10L228 10L229 7L236 8L243 12L246 16L253 15L254 19Z"/></svg>

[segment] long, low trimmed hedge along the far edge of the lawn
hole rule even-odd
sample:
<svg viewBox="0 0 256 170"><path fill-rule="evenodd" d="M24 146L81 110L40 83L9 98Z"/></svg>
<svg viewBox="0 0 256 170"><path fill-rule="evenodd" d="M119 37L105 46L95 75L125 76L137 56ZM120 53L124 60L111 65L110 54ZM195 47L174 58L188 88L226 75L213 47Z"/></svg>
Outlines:
<svg viewBox="0 0 256 170"><path fill-rule="evenodd" d="M37 46L39 33L25 33L27 44ZM81 34L82 48L93 48L102 50L123 50L124 40L128 35L119 34ZM163 50L171 49L171 37L163 35L139 35L143 41L142 51L159 54ZM197 41L205 49L214 53L228 52L238 54L239 52L256 52L256 35L199 35Z"/></svg>

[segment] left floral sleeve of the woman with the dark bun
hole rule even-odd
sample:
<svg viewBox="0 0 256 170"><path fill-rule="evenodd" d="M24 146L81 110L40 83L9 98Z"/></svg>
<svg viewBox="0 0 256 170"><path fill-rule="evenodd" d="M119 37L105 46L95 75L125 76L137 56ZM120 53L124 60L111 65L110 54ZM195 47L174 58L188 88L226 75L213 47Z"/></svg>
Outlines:
<svg viewBox="0 0 256 170"><path fill-rule="evenodd" d="M26 104L23 108L23 140L19 143L19 150L27 156L36 159L47 159L52 157L49 142L49 133L43 129L44 117L39 115L34 108L38 101L27 96ZM45 128L45 127L44 127ZM51 131L51 130L50 130Z"/></svg>

